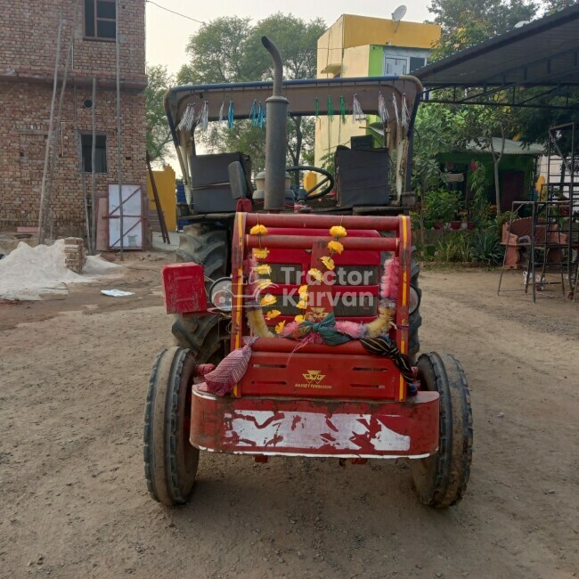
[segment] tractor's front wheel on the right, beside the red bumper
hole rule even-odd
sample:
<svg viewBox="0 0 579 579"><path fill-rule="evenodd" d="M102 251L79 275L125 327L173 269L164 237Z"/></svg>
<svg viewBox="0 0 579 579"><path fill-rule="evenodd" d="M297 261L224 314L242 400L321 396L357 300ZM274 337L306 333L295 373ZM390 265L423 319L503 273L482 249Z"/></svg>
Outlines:
<svg viewBox="0 0 579 579"><path fill-rule="evenodd" d="M445 509L461 501L470 476L472 412L461 363L449 354L428 353L418 359L420 386L440 395L438 450L410 461L420 500Z"/></svg>

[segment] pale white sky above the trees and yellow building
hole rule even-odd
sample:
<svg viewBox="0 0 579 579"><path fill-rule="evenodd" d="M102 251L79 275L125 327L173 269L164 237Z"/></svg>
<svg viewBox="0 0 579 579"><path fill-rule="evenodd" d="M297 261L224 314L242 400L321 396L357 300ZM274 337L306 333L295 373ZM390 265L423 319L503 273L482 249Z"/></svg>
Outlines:
<svg viewBox="0 0 579 579"><path fill-rule="evenodd" d="M312 20L321 17L330 27L341 14L359 14L390 18L404 0L155 0L157 4L208 22L221 16L235 14L262 20L273 12L291 13L298 18ZM422 22L432 16L428 13L429 0L406 0L408 12L404 20ZM185 46L189 37L200 29L200 24L147 3L147 63L164 64L175 74L186 61Z"/></svg>

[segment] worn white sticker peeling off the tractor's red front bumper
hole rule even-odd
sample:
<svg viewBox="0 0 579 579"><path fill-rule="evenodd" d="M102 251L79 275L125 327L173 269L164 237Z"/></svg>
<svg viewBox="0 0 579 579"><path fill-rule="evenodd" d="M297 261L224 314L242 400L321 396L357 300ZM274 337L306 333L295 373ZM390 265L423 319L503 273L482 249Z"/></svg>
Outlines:
<svg viewBox="0 0 579 579"><path fill-rule="evenodd" d="M236 410L226 412L224 443L242 449L406 452L410 436L372 414Z"/></svg>

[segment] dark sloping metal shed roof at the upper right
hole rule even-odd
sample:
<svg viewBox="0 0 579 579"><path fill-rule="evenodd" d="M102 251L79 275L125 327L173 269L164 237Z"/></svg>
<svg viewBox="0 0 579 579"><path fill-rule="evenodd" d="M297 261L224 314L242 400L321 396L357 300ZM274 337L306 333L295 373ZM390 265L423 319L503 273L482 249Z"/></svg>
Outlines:
<svg viewBox="0 0 579 579"><path fill-rule="evenodd" d="M426 88L579 86L579 4L413 73Z"/></svg>

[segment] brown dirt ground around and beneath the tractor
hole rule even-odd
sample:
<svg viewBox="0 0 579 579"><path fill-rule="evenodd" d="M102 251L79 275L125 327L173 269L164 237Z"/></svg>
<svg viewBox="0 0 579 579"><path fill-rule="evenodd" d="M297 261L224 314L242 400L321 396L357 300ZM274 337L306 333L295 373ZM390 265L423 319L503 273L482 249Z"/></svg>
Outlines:
<svg viewBox="0 0 579 579"><path fill-rule="evenodd" d="M166 509L143 477L145 387L171 343L154 255L114 281L135 297L91 285L0 305L2 577L579 573L579 302L497 298L497 272L423 272L422 347L457 355L472 392L458 507L421 506L404 461L202 454L192 502Z"/></svg>

